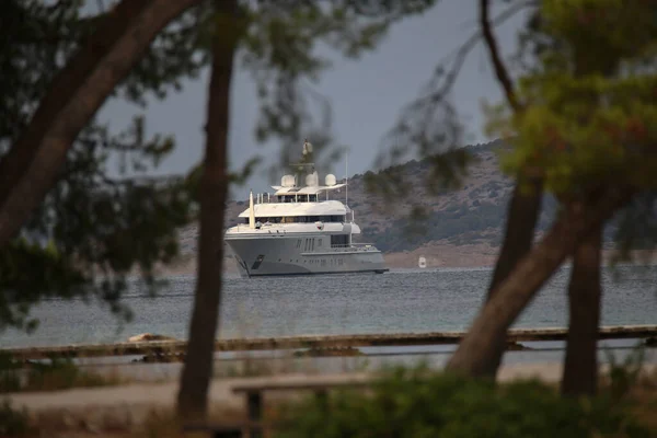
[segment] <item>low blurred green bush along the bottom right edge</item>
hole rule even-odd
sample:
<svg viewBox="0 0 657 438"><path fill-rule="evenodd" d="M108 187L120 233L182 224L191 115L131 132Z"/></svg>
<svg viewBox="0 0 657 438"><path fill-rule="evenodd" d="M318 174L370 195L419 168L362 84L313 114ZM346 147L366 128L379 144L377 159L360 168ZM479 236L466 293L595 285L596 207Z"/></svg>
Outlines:
<svg viewBox="0 0 657 438"><path fill-rule="evenodd" d="M371 394L289 407L279 437L648 437L627 406L563 399L539 381L496 385L425 367L384 373Z"/></svg>

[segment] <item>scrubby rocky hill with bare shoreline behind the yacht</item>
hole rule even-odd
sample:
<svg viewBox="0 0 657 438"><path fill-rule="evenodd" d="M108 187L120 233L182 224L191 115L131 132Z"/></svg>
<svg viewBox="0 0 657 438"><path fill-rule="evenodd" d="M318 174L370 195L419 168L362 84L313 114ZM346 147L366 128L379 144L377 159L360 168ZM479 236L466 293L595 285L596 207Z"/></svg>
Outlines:
<svg viewBox="0 0 657 438"><path fill-rule="evenodd" d="M495 263L506 220L507 203L512 183L499 171L498 152L504 148L500 140L485 145L469 146L465 150L474 158L468 166L466 177L457 189L434 195L426 189L431 163L428 159L410 161L397 168L404 184L411 189L402 198L384 199L366 189L366 175L349 177L348 204L356 211L356 222L362 234L356 241L376 244L384 252L390 267L417 267L419 256L428 266L491 266ZM344 192L335 198L344 199ZM237 217L249 203L227 204L227 227L237 223ZM413 211L422 207L422 220L413 219ZM537 230L540 235L550 224L556 211L551 196L543 199L543 208ZM194 269L197 226L181 230L183 262L177 269ZM609 243L612 227L606 230ZM226 268L235 269L230 249L227 246Z"/></svg>

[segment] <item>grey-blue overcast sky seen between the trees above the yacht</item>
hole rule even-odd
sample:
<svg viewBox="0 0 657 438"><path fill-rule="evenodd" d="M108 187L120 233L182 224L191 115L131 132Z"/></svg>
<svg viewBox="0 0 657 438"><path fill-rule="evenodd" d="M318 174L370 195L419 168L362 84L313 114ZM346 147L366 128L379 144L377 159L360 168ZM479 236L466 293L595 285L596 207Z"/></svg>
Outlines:
<svg viewBox="0 0 657 438"><path fill-rule="evenodd" d="M333 135L336 142L348 146L349 175L372 169L385 132L393 127L402 107L419 95L437 64L453 53L477 30L476 0L442 0L422 16L405 19L393 25L378 48L359 59L345 59L326 53L333 60L314 89L328 97L333 111ZM493 9L493 14L502 9ZM517 32L523 23L518 14L496 27L495 34L505 55L516 47ZM149 134L173 135L176 149L152 174L183 174L203 158L208 74L183 83L181 92L164 101L149 100L145 112ZM499 102L502 94L491 68L488 54L480 43L469 55L454 84L452 99L466 129L464 143L486 141L483 134L482 100ZM99 116L113 129L127 126L142 110L122 102L110 102ZM279 159L278 143L260 145L254 137L258 102L251 73L238 67L231 90L229 161L233 171L251 158L260 155L263 164L231 196L245 199L249 191L270 191L265 171ZM312 139L309 139L312 142ZM302 145L299 145L299 157ZM345 176L344 162L335 163L333 173ZM321 180L323 176L320 175Z"/></svg>

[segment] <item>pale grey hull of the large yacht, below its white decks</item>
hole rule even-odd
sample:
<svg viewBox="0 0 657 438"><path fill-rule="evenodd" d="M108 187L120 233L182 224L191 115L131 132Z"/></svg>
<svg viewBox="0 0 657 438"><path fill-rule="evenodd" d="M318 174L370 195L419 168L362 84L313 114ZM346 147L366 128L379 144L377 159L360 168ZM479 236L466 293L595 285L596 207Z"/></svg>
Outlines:
<svg viewBox="0 0 657 438"><path fill-rule="evenodd" d="M234 237L233 251L242 277L384 273L383 255L373 246L331 247L328 235Z"/></svg>

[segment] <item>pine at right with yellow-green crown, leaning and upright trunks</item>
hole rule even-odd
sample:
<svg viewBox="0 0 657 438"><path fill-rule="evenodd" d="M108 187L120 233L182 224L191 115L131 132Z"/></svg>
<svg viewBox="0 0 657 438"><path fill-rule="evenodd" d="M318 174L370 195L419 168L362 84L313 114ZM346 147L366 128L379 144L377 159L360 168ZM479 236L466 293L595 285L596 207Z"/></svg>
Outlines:
<svg viewBox="0 0 657 438"><path fill-rule="evenodd" d="M644 1L544 1L538 30L546 36L518 78L520 114L506 105L492 127L514 132L509 172L535 172L562 204L550 232L482 310L449 368L479 373L491 344L505 336L540 286L574 255L570 333L562 390L596 390L600 234L636 194L654 189L657 84L654 7ZM544 42L545 39L543 39ZM535 46L534 46L535 48ZM523 283L523 285L522 285Z"/></svg>

